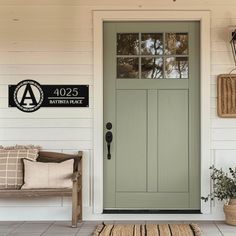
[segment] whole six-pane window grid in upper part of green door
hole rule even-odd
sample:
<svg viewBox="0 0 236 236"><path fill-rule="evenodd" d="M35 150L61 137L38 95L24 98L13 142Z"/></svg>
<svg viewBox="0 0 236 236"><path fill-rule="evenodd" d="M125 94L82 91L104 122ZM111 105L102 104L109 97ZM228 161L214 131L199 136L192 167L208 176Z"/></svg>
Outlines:
<svg viewBox="0 0 236 236"><path fill-rule="evenodd" d="M118 33L118 79L188 79L188 33Z"/></svg>

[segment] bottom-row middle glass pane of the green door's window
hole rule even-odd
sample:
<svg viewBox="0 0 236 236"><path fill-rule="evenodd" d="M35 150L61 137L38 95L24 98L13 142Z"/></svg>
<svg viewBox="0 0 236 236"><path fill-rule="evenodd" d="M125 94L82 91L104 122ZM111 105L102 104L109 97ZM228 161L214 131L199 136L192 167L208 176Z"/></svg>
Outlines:
<svg viewBox="0 0 236 236"><path fill-rule="evenodd" d="M163 78L163 58L142 58L142 79Z"/></svg>

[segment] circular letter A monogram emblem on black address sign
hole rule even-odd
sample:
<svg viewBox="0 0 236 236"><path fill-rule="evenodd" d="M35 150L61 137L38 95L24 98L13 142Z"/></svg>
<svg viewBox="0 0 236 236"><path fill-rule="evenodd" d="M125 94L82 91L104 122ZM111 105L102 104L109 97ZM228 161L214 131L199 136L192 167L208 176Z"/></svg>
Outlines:
<svg viewBox="0 0 236 236"><path fill-rule="evenodd" d="M14 102L24 112L34 112L40 108L44 99L40 84L34 80L23 80L14 91Z"/></svg>

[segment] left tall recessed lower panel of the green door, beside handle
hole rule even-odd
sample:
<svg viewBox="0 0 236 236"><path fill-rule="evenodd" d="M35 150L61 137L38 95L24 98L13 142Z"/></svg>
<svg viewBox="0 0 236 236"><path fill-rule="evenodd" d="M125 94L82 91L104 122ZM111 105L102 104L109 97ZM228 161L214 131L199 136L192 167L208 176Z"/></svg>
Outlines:
<svg viewBox="0 0 236 236"><path fill-rule="evenodd" d="M145 90L117 90L116 191L146 191L146 97Z"/></svg>

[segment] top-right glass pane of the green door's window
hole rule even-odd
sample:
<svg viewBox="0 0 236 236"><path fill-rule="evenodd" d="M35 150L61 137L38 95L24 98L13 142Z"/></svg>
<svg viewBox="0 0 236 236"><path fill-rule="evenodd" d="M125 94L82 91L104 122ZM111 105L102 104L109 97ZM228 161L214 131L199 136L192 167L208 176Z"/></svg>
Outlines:
<svg viewBox="0 0 236 236"><path fill-rule="evenodd" d="M187 33L167 33L165 34L165 54L166 55L187 55L188 54L188 34Z"/></svg>

